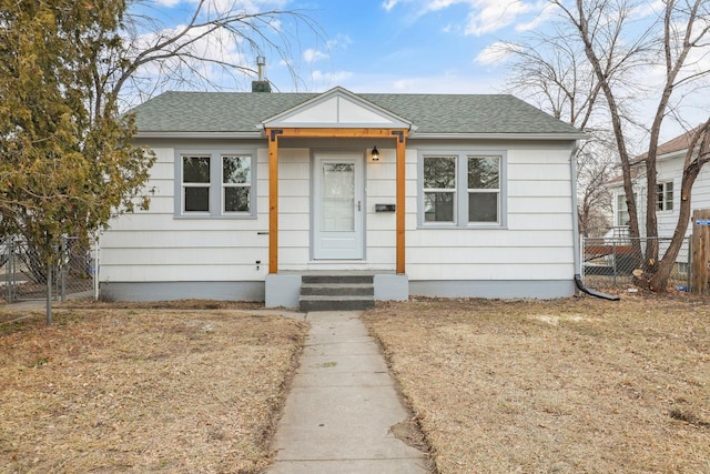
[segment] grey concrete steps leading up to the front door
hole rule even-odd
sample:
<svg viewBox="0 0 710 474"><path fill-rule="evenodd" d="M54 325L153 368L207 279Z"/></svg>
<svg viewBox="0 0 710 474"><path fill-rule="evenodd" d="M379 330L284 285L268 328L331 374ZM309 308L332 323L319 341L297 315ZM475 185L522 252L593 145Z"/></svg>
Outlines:
<svg viewBox="0 0 710 474"><path fill-rule="evenodd" d="M375 307L373 275L303 275L300 311L359 311Z"/></svg>

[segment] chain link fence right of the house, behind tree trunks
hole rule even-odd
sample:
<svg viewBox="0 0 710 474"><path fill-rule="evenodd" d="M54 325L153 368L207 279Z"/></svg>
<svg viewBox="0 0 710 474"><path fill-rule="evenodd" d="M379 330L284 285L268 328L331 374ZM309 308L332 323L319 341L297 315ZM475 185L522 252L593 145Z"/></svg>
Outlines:
<svg viewBox="0 0 710 474"><path fill-rule="evenodd" d="M662 256L670 245L670 238L657 238L658 254ZM638 242L641 252L650 239L629 236L582 238L582 280L594 289L619 288L633 285L633 271L639 269L639 262L633 254ZM686 238L678 252L673 270L668 281L669 286L689 291L691 272L690 239Z"/></svg>

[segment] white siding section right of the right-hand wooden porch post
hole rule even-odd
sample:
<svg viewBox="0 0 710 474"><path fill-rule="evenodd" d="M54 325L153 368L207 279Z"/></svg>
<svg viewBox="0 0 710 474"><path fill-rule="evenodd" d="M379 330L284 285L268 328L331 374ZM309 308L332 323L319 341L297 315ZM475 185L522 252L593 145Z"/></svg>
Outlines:
<svg viewBox="0 0 710 474"><path fill-rule="evenodd" d="M410 283L571 280L575 273L571 143L506 145L500 150L477 150L475 143L460 148L465 159L501 157L503 225L497 226L474 226L468 222L464 226L427 225L430 223L422 215L423 200L410 199L412 192L424 191L420 158L458 155L459 151L420 149L407 154L407 167L412 168L407 168L406 272ZM466 199L468 188L464 191ZM464 213L463 219L467 218Z"/></svg>

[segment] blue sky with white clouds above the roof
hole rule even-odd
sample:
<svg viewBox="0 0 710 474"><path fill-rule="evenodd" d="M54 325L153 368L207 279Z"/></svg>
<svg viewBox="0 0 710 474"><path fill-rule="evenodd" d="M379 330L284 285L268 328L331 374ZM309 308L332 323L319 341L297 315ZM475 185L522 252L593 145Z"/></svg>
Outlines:
<svg viewBox="0 0 710 474"><path fill-rule="evenodd" d="M166 28L185 21L199 0L145 0L143 12ZM531 31L550 28L547 0L205 0L213 8L246 11L297 10L321 30L315 36L303 24L288 42L290 64L265 50L266 78L280 92L322 92L336 85L353 92L500 93L508 92L506 61L491 51L499 41L521 40ZM661 0L649 0L633 13L639 20L659 11ZM293 24L284 23L287 34ZM294 31L291 31L294 30ZM294 37L295 38L295 37ZM231 61L255 68L256 52L224 42L203 44L197 54L226 54ZM699 58L710 69L710 53ZM149 71L150 74L150 71ZM253 75L220 78L209 71L221 90L251 90ZM662 71L645 71L635 84L658 90ZM192 84L180 84L191 89ZM707 89L703 91L707 92ZM518 94L519 95L519 94ZM652 93L651 93L652 95ZM146 97L142 98L143 100ZM524 98L525 99L525 98ZM641 104L641 101L635 101ZM710 101L698 91L683 112L688 123L707 118ZM641 122L650 122L655 105L639 105ZM643 110L645 109L645 110ZM648 120L647 120L648 119ZM671 123L662 139L681 132Z"/></svg>

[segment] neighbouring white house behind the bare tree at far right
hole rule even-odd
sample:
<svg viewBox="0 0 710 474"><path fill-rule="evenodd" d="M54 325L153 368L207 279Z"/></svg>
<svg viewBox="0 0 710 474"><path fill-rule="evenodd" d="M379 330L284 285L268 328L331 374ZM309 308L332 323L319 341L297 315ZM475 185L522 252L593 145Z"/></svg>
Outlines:
<svg viewBox="0 0 710 474"><path fill-rule="evenodd" d="M656 215L658 219L658 235L660 238L672 238L678 223L680 212L680 185L682 179L683 160L690 145L690 140L696 130L682 133L658 147L658 158L656 161ZM632 162L631 174L633 177L633 189L639 218L639 232L646 234L646 206L647 206L647 180L646 155L636 158ZM616 178L608 183L613 194L613 225L628 230L629 211L626 203L622 178ZM692 186L691 209L710 208L710 169L704 167ZM692 212L691 212L692 215ZM688 222L686 235L692 231L691 222ZM610 231L607 236L611 235ZM683 252L687 255L687 251Z"/></svg>

